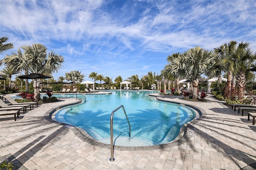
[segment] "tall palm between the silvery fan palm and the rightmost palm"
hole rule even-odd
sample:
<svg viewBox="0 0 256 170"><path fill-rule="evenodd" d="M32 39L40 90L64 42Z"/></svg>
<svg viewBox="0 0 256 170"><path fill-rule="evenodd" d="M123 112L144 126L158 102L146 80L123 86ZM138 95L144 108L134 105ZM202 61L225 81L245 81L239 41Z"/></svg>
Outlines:
<svg viewBox="0 0 256 170"><path fill-rule="evenodd" d="M232 57L234 51L236 51L237 42L231 41L224 43L220 47L214 48L214 52L218 55L218 60L221 62L222 70L228 73L227 82L225 85L224 96L229 97L231 93L232 73L234 72L235 60ZM220 77L220 76L218 76Z"/></svg>

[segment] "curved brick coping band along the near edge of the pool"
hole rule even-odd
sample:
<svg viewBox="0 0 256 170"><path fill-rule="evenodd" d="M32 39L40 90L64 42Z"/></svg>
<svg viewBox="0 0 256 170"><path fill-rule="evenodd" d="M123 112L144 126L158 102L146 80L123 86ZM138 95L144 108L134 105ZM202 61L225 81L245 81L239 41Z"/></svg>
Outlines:
<svg viewBox="0 0 256 170"><path fill-rule="evenodd" d="M185 103L179 103L179 102L174 102L174 101L170 101L170 100L159 99L158 97L156 97L156 99L159 100L159 101L163 101L163 102L175 103L175 104L191 107L191 108L195 109L196 111L199 111L199 113L201 113L201 114L199 115L199 117L197 119L193 119L192 121L186 123L185 125L183 125L180 128L180 132L177 136L179 138L177 140L173 140L173 141L168 142L166 144L152 145L152 146L114 146L114 150L145 151L145 150L158 150L158 149L172 148L174 146L178 146L180 144L183 144L183 143L187 142L190 138L192 138L192 136L194 135L194 125L196 123L198 123L198 121L200 121L200 119L204 118L207 115L206 112L204 111L204 109L202 109L200 107L197 107L197 106L194 106L194 105L188 105L188 104L185 104ZM52 120L52 115L55 111L57 111L59 109L62 109L64 107L77 105L77 104L80 104L80 103L82 103L82 100L78 99L78 101L76 101L76 102L61 105L61 106L56 107L54 109L50 109L45 113L44 118L47 121L51 122L51 123L56 123L58 125L63 125L63 126L66 126L66 127L70 128L74 132L74 134L78 138L83 140L84 142L92 144L93 146L98 146L98 147L101 147L101 148L110 149L110 146L111 146L110 144L105 144L105 143L99 142L98 140L92 138L84 129L79 128L79 127L73 127L73 126L70 126L66 123L61 123L61 122L57 122L57 121ZM191 133L191 131L193 133Z"/></svg>

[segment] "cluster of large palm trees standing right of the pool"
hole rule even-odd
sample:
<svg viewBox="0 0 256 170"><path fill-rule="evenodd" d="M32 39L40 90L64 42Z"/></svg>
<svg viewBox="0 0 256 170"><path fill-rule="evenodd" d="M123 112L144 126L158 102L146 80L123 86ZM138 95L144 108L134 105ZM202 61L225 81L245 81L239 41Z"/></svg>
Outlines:
<svg viewBox="0 0 256 170"><path fill-rule="evenodd" d="M238 100L242 101L246 85L247 69L253 66L256 53L249 48L249 43L231 41L214 50L200 47L188 49L184 53L174 53L167 57L169 62L164 73L171 73L178 82L180 77L185 77L192 83L193 99L198 96L198 84L201 75L210 78L221 78L222 73L227 73L228 81L225 86L225 97L230 97L232 86L238 87ZM237 82L237 84L236 84ZM177 87L179 89L179 87Z"/></svg>

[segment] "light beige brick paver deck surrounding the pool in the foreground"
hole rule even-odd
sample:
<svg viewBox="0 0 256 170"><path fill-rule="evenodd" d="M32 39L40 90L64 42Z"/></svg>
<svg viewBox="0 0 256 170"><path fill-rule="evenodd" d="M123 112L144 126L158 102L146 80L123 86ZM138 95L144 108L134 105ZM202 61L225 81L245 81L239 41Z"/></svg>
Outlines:
<svg viewBox="0 0 256 170"><path fill-rule="evenodd" d="M238 170L256 167L256 126L231 108L207 97L206 103L160 96L187 103L205 113L188 125L188 134L169 147L152 150L115 150L110 162L108 145L86 142L77 128L47 119L50 110L76 99L60 99L20 114L0 117L0 162L12 160L20 170L164 169ZM45 117L46 115L46 117ZM120 147L121 148L121 147ZM249 166L251 165L251 166Z"/></svg>

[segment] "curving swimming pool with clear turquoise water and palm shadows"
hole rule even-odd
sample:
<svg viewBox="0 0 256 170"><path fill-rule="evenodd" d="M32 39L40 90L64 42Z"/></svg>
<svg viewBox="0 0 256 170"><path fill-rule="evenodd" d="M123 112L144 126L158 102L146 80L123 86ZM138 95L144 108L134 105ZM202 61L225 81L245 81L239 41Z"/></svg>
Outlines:
<svg viewBox="0 0 256 170"><path fill-rule="evenodd" d="M109 95L86 95L86 102L57 111L56 121L80 127L96 140L110 144L110 115L124 105L131 125L122 109L114 114L114 145L150 146L171 142L180 128L196 117L193 109L155 101L147 91L112 91Z"/></svg>

